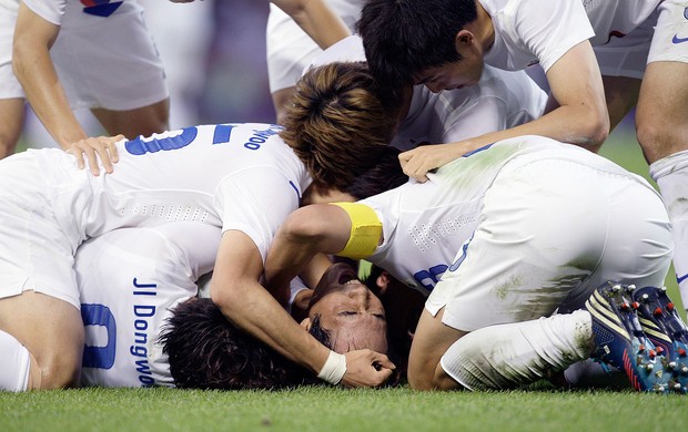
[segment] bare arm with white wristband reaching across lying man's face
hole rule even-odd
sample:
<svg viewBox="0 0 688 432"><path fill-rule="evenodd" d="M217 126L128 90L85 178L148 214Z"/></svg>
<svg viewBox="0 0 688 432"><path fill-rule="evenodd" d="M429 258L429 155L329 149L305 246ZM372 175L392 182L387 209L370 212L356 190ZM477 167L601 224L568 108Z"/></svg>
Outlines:
<svg viewBox="0 0 688 432"><path fill-rule="evenodd" d="M333 353L294 321L286 310L259 284L263 260L253 240L242 232L223 234L211 285L211 298L223 315L287 359L318 373L330 382L353 387L376 387L387 380L393 364L386 356L371 350ZM345 359L334 368L333 359ZM374 364L382 364L378 371Z"/></svg>

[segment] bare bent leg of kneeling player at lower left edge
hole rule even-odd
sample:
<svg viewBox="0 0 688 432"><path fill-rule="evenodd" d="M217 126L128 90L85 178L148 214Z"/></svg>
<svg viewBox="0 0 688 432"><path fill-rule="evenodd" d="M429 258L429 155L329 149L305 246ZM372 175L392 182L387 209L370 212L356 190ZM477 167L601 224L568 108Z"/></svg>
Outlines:
<svg viewBox="0 0 688 432"><path fill-rule="evenodd" d="M0 330L13 336L32 357L29 390L79 383L84 330L72 305L33 291L0 299Z"/></svg>

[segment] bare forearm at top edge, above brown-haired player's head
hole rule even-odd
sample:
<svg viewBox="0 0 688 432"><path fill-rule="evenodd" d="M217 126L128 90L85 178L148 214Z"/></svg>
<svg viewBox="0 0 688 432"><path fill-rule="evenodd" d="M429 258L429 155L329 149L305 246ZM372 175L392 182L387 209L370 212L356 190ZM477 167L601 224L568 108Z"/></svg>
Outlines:
<svg viewBox="0 0 688 432"><path fill-rule="evenodd" d="M323 50L351 35L344 21L323 0L273 0Z"/></svg>

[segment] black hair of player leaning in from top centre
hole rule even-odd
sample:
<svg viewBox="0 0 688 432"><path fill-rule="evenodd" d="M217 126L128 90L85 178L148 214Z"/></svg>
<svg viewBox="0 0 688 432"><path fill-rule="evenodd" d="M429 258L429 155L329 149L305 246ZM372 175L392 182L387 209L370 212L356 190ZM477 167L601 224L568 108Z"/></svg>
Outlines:
<svg viewBox="0 0 688 432"><path fill-rule="evenodd" d="M475 0L368 0L356 30L371 72L388 92L428 68L461 61L456 33L476 19Z"/></svg>

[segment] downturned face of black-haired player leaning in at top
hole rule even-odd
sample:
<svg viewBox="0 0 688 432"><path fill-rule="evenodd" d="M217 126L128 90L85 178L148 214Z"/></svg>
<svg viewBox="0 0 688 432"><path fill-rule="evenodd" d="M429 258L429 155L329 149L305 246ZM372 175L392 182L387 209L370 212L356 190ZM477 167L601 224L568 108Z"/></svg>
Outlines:
<svg viewBox="0 0 688 432"><path fill-rule="evenodd" d="M416 84L425 84L433 93L443 90L463 89L475 85L483 74L483 60L466 55L461 62L428 68L415 76Z"/></svg>

